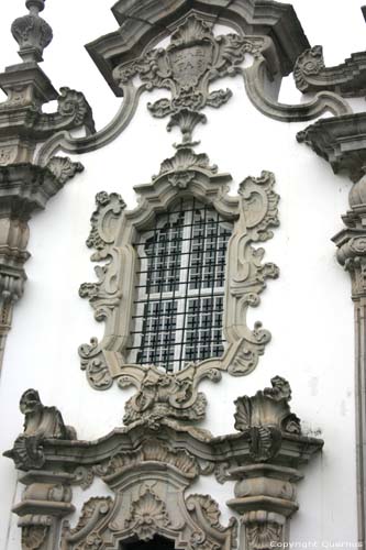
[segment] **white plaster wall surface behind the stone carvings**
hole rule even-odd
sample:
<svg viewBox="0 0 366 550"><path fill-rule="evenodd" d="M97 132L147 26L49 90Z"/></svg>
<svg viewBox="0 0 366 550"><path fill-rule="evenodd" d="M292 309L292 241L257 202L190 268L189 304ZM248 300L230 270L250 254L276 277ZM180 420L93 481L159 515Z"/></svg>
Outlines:
<svg viewBox="0 0 366 550"><path fill-rule="evenodd" d="M23 11L19 0L7 0L0 20L1 65L16 63L16 45L8 28ZM56 87L67 85L86 92L95 109L98 128L109 121L120 105L82 44L115 29L109 2L63 0L44 12L55 33L45 52L43 68ZM292 2L311 44L323 44L325 61L341 63L351 52L364 48L362 1L315 0ZM326 22L326 24L324 24ZM341 40L342 36L342 40ZM235 190L247 175L262 169L276 174L281 196L280 222L275 238L265 244L266 260L275 262L280 278L269 280L263 304L251 312L273 333L273 341L254 373L243 378L223 376L220 384L203 383L209 398L203 427L214 435L233 431L233 402L269 384L275 374L289 380L292 409L311 435L325 440L322 457L306 469L299 485L300 512L291 522L292 541L356 541L356 475L354 433L353 308L351 284L334 256L331 237L342 229L350 183L334 176L330 166L296 142L306 123L287 124L263 117L249 103L242 80L222 80L234 96L222 109L207 110L209 123L197 130L200 151L209 154L220 170L233 175ZM16 306L0 380L0 450L12 446L23 421L20 395L29 387L40 391L43 402L62 409L64 419L80 439L93 439L121 426L124 402L131 391L91 389L79 369L77 349L90 337L101 337L103 327L93 321L87 300L78 297L82 282L95 275L85 245L95 195L118 191L129 207L135 204L133 185L147 183L159 163L174 154L178 134L165 131L165 120L154 120L143 97L127 131L107 148L84 155L86 170L52 199L44 212L31 221L27 262L29 280ZM287 79L281 91L286 102L298 102L300 94ZM359 101L353 102L363 108ZM19 502L20 488L11 461L0 459L0 549L20 548L15 518L9 509ZM232 484L218 486L202 479L195 492L210 492L228 518L224 502ZM81 503L88 494L76 492ZM15 493L18 494L15 495Z"/></svg>

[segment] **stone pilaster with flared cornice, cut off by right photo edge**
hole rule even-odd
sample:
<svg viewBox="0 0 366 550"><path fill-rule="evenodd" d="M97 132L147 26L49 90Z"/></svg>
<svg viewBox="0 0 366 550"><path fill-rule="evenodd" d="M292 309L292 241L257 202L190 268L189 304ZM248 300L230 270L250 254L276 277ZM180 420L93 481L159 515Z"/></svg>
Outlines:
<svg viewBox="0 0 366 550"><path fill-rule="evenodd" d="M366 165L366 113L359 112L345 117L320 120L298 134L298 141L306 143L320 156L325 158L335 174L346 174L355 185L350 193L351 210L343 217L346 229L333 239L340 263L350 272L352 278L352 299L355 307L355 382L356 382L356 455L357 455L357 508L358 541L366 541L366 480L364 471L366 455L364 442L365 410L365 372L363 342L365 340L364 322L364 210L365 165Z"/></svg>

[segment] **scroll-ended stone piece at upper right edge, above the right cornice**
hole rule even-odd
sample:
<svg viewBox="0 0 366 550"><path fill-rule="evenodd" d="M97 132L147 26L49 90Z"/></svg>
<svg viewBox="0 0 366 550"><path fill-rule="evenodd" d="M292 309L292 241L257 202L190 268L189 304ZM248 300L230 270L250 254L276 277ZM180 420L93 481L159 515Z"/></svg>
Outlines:
<svg viewBox="0 0 366 550"><path fill-rule="evenodd" d="M343 97L365 96L366 52L352 54L337 67L325 67L322 46L314 46L299 56L293 77L303 94L328 90Z"/></svg>

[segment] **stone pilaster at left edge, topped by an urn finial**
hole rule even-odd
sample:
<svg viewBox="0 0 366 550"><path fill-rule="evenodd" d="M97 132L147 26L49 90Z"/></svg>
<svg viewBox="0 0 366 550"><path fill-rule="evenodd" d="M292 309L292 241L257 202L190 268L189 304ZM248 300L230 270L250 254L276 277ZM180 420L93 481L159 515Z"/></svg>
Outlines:
<svg viewBox="0 0 366 550"><path fill-rule="evenodd" d="M57 156L36 166L35 148L60 130L84 127L88 134L95 131L84 95L67 87L57 94L37 64L52 38L49 25L38 15L44 0L27 0L26 7L30 13L12 25L23 63L0 74L0 87L7 95L0 103L0 367L13 306L26 279L27 221L82 169L80 163ZM55 99L57 112L44 113L43 105Z"/></svg>

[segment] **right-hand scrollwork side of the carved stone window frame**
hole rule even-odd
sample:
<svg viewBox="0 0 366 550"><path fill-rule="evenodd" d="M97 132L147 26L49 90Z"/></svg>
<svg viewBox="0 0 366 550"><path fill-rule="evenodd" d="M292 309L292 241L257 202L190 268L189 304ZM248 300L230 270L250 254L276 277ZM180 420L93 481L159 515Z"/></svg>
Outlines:
<svg viewBox="0 0 366 550"><path fill-rule="evenodd" d="M263 172L259 178L244 179L239 188L245 230L234 232L228 251L232 276L228 282L230 288L226 296L225 332L229 341L245 337L245 343L230 364L229 371L233 375L253 371L265 344L270 340L270 333L262 328L260 322L256 322L252 331L244 327L248 308L260 302L259 295L266 287L266 279L277 278L279 275L275 264L262 263L264 249L254 249L252 245L270 239L270 228L279 224L279 197L273 190L274 184L274 175ZM239 324L243 324L241 330Z"/></svg>

